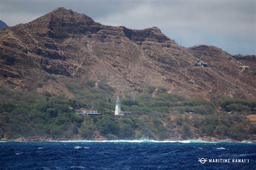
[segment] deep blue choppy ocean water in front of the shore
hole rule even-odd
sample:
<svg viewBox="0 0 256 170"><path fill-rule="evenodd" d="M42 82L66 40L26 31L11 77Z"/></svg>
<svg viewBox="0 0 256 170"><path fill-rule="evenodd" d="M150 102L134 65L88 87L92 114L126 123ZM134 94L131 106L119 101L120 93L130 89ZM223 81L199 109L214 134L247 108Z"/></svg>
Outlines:
<svg viewBox="0 0 256 170"><path fill-rule="evenodd" d="M255 143L0 142L0 169L255 169L255 164Z"/></svg>

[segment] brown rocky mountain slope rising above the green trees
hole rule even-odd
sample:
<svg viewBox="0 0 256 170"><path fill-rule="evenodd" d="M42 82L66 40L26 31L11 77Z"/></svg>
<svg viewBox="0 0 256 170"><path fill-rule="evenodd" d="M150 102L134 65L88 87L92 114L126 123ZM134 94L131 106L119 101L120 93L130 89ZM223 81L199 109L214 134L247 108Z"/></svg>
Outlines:
<svg viewBox="0 0 256 170"><path fill-rule="evenodd" d="M198 58L209 67L195 67ZM64 8L0 30L0 66L4 86L65 92L70 97L67 79L105 81L123 96L164 86L188 97L256 98L254 74L217 47L186 49L158 28L106 26ZM49 74L58 81L36 86Z"/></svg>

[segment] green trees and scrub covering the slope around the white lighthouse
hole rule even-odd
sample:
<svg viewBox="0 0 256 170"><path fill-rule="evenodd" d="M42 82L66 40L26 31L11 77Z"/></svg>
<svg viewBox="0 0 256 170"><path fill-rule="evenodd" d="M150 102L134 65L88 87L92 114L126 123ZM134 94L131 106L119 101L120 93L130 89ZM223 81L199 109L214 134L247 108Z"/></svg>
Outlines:
<svg viewBox="0 0 256 170"><path fill-rule="evenodd" d="M53 75L43 81L57 81ZM5 139L191 139L214 137L249 139L255 127L242 114L255 111L255 101L218 97L212 101L187 99L167 93L164 87L148 87L135 99L122 98L122 110L131 115L113 116L115 90L93 80L65 81L72 99L45 91L10 91L0 87L0 137ZM157 89L157 91L156 91ZM156 93L155 93L156 92ZM102 115L75 113L77 108L95 108ZM223 111L218 111L221 107Z"/></svg>

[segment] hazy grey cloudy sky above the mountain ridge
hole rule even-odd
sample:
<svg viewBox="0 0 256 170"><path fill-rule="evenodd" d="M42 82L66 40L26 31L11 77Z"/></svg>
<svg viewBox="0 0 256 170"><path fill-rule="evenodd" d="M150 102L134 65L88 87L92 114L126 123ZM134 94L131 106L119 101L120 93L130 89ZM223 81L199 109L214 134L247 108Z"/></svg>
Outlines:
<svg viewBox="0 0 256 170"><path fill-rule="evenodd" d="M0 20L28 23L58 7L104 25L157 26L185 47L214 45L232 55L256 54L256 0L0 0Z"/></svg>

